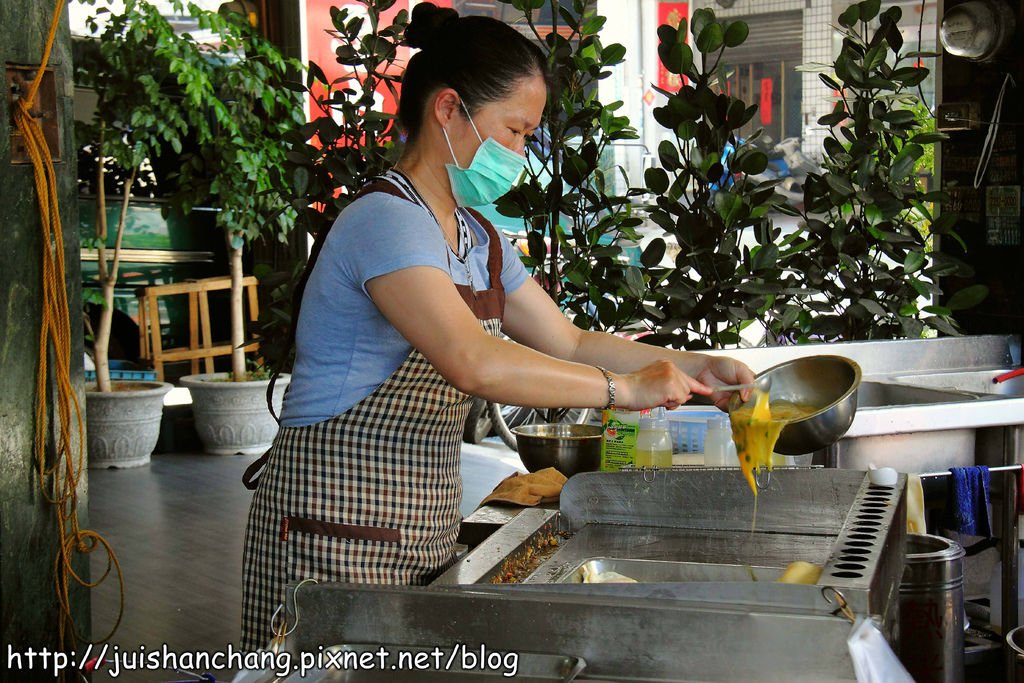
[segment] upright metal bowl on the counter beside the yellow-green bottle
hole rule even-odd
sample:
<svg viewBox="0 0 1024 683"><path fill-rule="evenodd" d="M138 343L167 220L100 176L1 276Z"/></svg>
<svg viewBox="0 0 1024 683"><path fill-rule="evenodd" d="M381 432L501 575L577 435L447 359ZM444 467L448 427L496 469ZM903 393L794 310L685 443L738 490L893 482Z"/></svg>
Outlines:
<svg viewBox="0 0 1024 683"><path fill-rule="evenodd" d="M514 427L519 459L530 472L554 467L569 477L601 467L603 430L595 425L550 424Z"/></svg>

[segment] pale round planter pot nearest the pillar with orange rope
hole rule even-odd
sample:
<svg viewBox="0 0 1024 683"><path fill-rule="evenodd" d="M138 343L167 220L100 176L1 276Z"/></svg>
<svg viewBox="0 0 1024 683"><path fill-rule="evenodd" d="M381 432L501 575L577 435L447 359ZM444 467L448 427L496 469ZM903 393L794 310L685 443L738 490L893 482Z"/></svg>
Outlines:
<svg viewBox="0 0 1024 683"><path fill-rule="evenodd" d="M85 392L86 431L91 469L140 467L160 438L166 382L114 382L114 391Z"/></svg>

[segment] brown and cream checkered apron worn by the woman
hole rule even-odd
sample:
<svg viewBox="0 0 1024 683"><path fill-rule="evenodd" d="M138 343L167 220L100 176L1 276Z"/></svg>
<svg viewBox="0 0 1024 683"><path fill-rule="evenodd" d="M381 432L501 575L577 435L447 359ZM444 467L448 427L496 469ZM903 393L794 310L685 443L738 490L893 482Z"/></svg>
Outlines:
<svg viewBox="0 0 1024 683"><path fill-rule="evenodd" d="M386 180L362 194L402 199ZM505 307L501 238L489 239L490 289L456 285L489 334ZM373 393L331 420L283 427L246 472L255 487L243 556L242 648L265 647L289 582L425 585L454 563L460 453L470 396L414 349ZM258 484L256 470L263 472Z"/></svg>

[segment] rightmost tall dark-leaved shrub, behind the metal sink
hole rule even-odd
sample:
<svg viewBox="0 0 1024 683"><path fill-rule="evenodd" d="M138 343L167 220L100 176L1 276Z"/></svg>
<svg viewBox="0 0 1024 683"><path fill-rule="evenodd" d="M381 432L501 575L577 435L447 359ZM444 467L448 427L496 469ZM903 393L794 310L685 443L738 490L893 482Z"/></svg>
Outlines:
<svg viewBox="0 0 1024 683"><path fill-rule="evenodd" d="M962 261L929 248L929 236L963 241L953 213L934 213L946 196L918 186L914 169L945 138L915 115L915 88L928 70L921 52L902 52L899 7L880 0L850 5L839 17L842 49L822 83L837 93L822 173L808 176L801 215L812 245L797 257L820 296L798 313L804 338L920 337L927 328L957 334L955 310L980 302L983 286L953 294L940 278L964 276ZM792 315L793 308L786 311Z"/></svg>

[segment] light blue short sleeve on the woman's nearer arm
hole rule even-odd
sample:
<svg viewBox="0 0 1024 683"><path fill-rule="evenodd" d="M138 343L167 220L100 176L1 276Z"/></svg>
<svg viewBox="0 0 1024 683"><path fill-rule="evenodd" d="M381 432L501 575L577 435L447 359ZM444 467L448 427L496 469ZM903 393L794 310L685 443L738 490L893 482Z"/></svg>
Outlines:
<svg viewBox="0 0 1024 683"><path fill-rule="evenodd" d="M418 205L373 193L342 215L328 242L335 242L332 251L343 272L364 293L369 281L403 268L425 265L449 271L440 227Z"/></svg>

